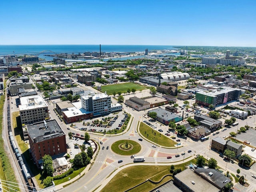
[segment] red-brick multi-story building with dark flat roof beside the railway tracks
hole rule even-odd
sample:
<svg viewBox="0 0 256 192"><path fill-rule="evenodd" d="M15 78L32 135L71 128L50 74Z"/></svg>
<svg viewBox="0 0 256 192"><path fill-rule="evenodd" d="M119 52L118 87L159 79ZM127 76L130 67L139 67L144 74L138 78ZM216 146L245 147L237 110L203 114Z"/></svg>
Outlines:
<svg viewBox="0 0 256 192"><path fill-rule="evenodd" d="M67 152L66 135L56 120L26 126L32 158L38 167L44 155L64 156Z"/></svg>

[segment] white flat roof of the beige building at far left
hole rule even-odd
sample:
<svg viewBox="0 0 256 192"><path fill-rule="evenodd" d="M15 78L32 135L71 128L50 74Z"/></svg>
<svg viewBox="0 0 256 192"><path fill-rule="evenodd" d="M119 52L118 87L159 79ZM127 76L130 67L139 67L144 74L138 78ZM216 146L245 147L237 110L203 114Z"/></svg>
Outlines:
<svg viewBox="0 0 256 192"><path fill-rule="evenodd" d="M48 107L41 95L27 96L20 98L19 110L30 110L41 107Z"/></svg>

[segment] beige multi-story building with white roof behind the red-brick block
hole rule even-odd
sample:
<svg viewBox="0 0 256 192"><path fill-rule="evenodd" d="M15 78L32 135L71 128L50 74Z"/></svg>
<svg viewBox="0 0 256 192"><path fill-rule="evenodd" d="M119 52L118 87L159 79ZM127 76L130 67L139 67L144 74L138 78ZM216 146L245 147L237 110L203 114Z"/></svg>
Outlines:
<svg viewBox="0 0 256 192"><path fill-rule="evenodd" d="M22 126L49 119L48 105L41 95L21 97L19 110Z"/></svg>

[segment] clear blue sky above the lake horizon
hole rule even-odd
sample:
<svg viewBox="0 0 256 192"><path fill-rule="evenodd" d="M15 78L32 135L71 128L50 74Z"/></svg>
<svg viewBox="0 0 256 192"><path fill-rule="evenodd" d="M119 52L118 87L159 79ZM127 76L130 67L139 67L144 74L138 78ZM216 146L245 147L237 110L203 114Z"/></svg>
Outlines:
<svg viewBox="0 0 256 192"><path fill-rule="evenodd" d="M0 44L256 46L255 0L2 0Z"/></svg>

